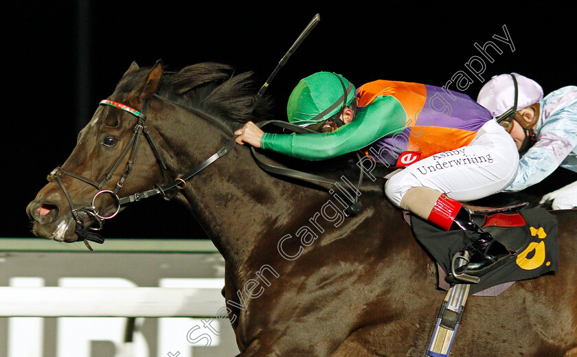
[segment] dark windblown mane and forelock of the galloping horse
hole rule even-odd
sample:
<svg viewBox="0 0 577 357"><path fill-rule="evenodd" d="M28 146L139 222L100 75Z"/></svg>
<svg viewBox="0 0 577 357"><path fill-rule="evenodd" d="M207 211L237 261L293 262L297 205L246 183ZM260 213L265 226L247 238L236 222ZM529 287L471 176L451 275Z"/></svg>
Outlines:
<svg viewBox="0 0 577 357"><path fill-rule="evenodd" d="M150 67L126 73L118 82L115 92L131 91L146 76ZM272 100L265 96L254 102L256 87L254 73L235 73L234 68L215 62L204 62L184 67L180 71L164 71L157 95L187 108L220 119L231 128L238 123L269 119Z"/></svg>

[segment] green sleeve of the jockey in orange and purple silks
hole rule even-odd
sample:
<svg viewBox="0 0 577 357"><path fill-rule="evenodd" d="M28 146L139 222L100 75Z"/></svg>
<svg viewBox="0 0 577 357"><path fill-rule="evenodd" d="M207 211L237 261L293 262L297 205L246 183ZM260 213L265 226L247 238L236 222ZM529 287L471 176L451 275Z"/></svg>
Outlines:
<svg viewBox="0 0 577 357"><path fill-rule="evenodd" d="M260 146L304 160L324 160L364 148L405 127L407 115L392 96L377 97L361 108L352 122L332 133L264 133Z"/></svg>

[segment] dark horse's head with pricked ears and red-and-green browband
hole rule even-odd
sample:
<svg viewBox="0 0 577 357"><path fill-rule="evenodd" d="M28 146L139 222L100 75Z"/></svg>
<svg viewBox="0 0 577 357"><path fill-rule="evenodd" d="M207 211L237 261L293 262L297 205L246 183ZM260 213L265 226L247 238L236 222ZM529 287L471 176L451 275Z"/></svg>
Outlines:
<svg viewBox="0 0 577 357"><path fill-rule="evenodd" d="M135 87L126 91L124 82L139 72L133 62L115 92L101 102L80 131L69 158L49 174L49 183L27 206L36 235L64 242L81 240L81 229L99 229L103 220L119 211L118 194L136 192L161 180L152 148L138 141L144 135L143 112L160 86L162 63L141 74ZM151 128L146 136L157 138L158 133Z"/></svg>

